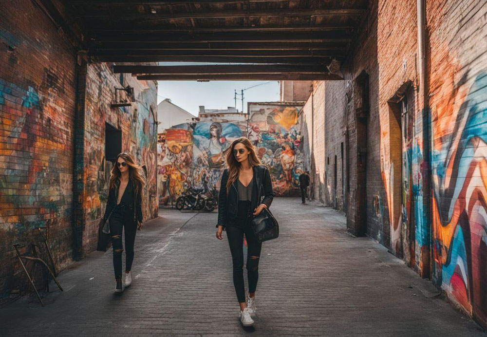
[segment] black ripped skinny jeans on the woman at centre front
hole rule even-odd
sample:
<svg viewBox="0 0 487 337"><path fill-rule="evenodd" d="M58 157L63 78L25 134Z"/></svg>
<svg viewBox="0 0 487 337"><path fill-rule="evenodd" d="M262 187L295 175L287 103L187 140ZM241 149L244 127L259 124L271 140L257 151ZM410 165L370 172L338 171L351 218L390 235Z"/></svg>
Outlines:
<svg viewBox="0 0 487 337"><path fill-rule="evenodd" d="M244 234L247 239L247 279L248 292L254 293L259 279L259 259L262 243L255 238L249 218L249 201L239 201L237 217L226 226L226 236L230 245L233 261L233 285L237 300L245 302L244 286ZM252 210L253 211L253 210ZM251 212L250 212L251 214Z"/></svg>

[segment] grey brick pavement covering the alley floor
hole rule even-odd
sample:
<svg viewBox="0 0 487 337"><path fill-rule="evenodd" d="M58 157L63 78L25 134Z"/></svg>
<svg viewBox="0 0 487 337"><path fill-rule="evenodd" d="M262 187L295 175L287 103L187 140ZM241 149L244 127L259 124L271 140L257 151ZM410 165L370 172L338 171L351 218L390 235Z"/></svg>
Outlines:
<svg viewBox="0 0 487 337"><path fill-rule="evenodd" d="M272 208L281 236L262 247L254 328L237 321L216 212L161 209L137 234L122 296L111 251L95 252L61 273L65 292L44 308L34 298L1 308L0 336L487 336L383 246L349 236L341 213L299 198Z"/></svg>

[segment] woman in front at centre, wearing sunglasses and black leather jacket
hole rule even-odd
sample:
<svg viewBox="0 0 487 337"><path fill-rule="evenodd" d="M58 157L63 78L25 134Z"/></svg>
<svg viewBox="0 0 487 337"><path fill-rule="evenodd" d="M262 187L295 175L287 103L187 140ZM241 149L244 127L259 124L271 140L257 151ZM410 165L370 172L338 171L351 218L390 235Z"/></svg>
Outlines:
<svg viewBox="0 0 487 337"><path fill-rule="evenodd" d="M223 239L226 228L233 261L233 285L240 304L240 321L244 326L254 324L256 314L255 290L259 277L262 243L258 242L250 226L253 216L268 208L274 197L268 169L261 165L250 140L234 140L226 155L227 169L220 185L216 237ZM262 199L262 200L261 200ZM244 289L244 235L247 240L248 296Z"/></svg>

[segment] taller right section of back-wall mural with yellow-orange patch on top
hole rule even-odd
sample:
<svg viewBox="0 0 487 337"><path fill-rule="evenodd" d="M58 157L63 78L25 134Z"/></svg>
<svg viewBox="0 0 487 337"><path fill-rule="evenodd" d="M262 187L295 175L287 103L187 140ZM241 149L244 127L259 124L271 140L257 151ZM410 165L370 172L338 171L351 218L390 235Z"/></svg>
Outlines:
<svg viewBox="0 0 487 337"><path fill-rule="evenodd" d="M249 103L248 138L271 173L276 195L297 196L304 170L298 113L301 106Z"/></svg>

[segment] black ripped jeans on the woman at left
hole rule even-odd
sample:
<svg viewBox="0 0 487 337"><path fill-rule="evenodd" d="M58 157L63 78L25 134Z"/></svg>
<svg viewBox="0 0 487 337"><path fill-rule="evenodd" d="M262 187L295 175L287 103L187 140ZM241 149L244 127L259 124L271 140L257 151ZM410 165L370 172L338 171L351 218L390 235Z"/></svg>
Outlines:
<svg viewBox="0 0 487 337"><path fill-rule="evenodd" d="M110 216L110 235L113 246L113 270L115 278L122 277L122 230L125 228L125 270L130 271L133 262L133 244L137 233L137 223L133 222L133 206L119 204Z"/></svg>

